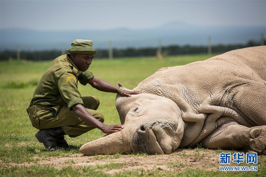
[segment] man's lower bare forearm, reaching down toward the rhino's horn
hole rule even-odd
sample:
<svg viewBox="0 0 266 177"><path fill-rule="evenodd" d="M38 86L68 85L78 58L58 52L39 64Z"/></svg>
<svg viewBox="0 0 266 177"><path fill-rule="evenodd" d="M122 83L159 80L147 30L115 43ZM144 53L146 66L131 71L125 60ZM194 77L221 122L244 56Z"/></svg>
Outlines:
<svg viewBox="0 0 266 177"><path fill-rule="evenodd" d="M100 121L98 121L96 118L94 118L86 110L86 108L84 108L83 105L81 105L81 104L74 105L74 106L72 106L72 110L79 118L81 118L81 120L83 120L87 124L94 126L100 130L104 127L104 124L101 123Z"/></svg>

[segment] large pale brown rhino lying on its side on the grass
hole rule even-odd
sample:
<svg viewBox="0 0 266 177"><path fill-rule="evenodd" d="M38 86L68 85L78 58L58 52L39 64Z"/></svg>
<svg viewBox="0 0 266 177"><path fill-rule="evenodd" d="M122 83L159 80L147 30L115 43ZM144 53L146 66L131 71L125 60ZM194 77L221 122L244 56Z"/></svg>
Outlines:
<svg viewBox="0 0 266 177"><path fill-rule="evenodd" d="M170 154L201 144L266 154L266 46L161 68L133 90L142 94L116 96L124 129L81 153Z"/></svg>

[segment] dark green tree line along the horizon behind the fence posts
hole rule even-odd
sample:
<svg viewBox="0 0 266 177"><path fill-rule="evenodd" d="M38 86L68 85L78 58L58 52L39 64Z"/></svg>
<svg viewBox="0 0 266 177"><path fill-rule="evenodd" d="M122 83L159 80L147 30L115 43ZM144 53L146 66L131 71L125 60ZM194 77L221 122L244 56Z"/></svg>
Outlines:
<svg viewBox="0 0 266 177"><path fill-rule="evenodd" d="M266 43L266 40L264 40ZM260 46L261 42L248 41L246 44L218 44L212 45L212 53L224 53L227 51ZM67 51L66 51L67 53ZM113 57L122 58L122 57L140 57L140 56L156 56L157 48L156 47L146 47L146 48L126 48L126 49L117 49L113 48ZM162 55L180 55L180 54L197 54L197 53L207 53L207 46L179 46L171 45L162 47ZM53 60L61 55L59 50L49 50L49 51L21 51L20 58L25 60L39 61L39 60ZM103 59L109 57L108 49L99 49L95 58ZM16 59L16 51L5 50L0 52L0 60L9 60Z"/></svg>

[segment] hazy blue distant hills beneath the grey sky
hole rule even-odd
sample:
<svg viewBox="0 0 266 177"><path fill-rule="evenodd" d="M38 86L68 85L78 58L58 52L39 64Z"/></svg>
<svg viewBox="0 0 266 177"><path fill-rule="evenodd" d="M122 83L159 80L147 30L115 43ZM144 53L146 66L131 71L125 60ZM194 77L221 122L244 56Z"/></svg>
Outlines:
<svg viewBox="0 0 266 177"><path fill-rule="evenodd" d="M66 24L67 25L67 24ZM0 50L61 50L62 43L70 48L74 39L91 39L95 49L108 48L112 41L114 48L155 47L158 40L168 45L207 45L207 37L212 44L246 43L248 40L260 40L265 35L265 26L199 26L180 21L166 23L155 28L131 30L118 28L111 30L75 30L75 31L37 31L27 29L1 29Z"/></svg>

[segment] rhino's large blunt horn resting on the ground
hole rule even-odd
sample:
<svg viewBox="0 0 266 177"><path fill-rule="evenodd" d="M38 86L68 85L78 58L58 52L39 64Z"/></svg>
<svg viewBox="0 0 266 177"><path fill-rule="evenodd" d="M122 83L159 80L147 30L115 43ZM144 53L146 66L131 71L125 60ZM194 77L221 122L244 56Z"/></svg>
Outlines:
<svg viewBox="0 0 266 177"><path fill-rule="evenodd" d="M116 152L132 152L129 137L123 136L124 129L109 134L100 139L88 142L80 147L79 151L84 155L114 154Z"/></svg>

